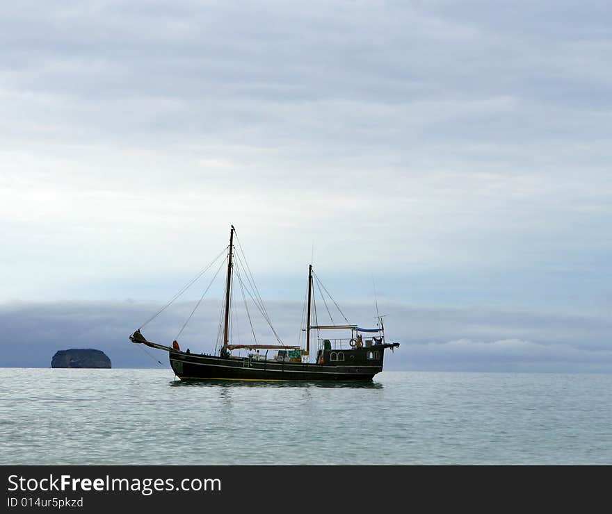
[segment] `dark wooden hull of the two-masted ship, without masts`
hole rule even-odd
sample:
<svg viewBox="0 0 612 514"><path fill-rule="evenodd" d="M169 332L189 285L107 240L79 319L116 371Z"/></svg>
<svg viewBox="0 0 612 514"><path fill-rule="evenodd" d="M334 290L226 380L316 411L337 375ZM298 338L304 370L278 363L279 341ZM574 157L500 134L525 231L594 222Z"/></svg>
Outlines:
<svg viewBox="0 0 612 514"><path fill-rule="evenodd" d="M371 381L375 374L383 371L384 349L389 347L395 346L376 345L334 352L325 350L319 354L318 364L170 351L170 366L182 380ZM334 362L330 360L332 353L336 357L344 354L346 360ZM378 356L378 359L374 356Z"/></svg>

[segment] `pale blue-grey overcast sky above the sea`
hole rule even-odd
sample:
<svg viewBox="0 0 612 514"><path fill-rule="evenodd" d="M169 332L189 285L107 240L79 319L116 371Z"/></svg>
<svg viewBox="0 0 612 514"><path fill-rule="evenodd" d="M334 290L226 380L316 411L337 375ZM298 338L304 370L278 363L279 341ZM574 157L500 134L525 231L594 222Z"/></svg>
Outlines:
<svg viewBox="0 0 612 514"><path fill-rule="evenodd" d="M0 365L150 365L124 332L234 224L285 338L314 255L352 319L374 279L389 367L612 372L611 27L606 1L3 6Z"/></svg>

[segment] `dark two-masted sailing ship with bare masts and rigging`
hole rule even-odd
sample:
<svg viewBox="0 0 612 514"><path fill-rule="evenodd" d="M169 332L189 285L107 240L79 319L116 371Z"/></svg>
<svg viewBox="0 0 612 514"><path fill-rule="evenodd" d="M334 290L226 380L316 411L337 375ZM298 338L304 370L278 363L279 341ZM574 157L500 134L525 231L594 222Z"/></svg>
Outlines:
<svg viewBox="0 0 612 514"><path fill-rule="evenodd" d="M172 343L172 346L151 342L140 333L140 329L142 329L144 325L140 326L138 330L129 336L131 342L143 344L154 349L168 351L170 366L175 372L175 375L182 380L371 381L374 375L383 371L385 349L393 350L399 347L399 343L385 341L383 317L379 316L378 313L376 317L377 326L372 329L364 329L355 324L348 323L344 314L343 317L346 324L319 324L316 310L313 323L313 308L316 309L316 305L314 304L313 277L318 282L318 285L319 279L314 273L312 264L308 266L305 327L302 329L302 331L305 332L305 347L302 345L282 344L282 341L270 323L265 308L261 310L263 304L261 303L261 297L259 296L257 287L250 279L248 279L247 282L243 281L241 275L238 275L241 288L243 288L244 285L252 285L252 288L249 290L252 291L252 294L249 293L249 295L255 301L255 304L260 307L262 314L276 335L277 342L280 344L259 344L257 340L255 340L254 344L234 343L230 341L230 310L233 303L232 283L235 272L234 258L237 256L237 254L234 253L234 235L236 235L236 230L232 225L230 229L230 244L229 247L227 247L227 276L225 281L225 304L223 306L223 340L218 349L218 354L216 351L215 354L211 355L198 355L191 353L189 349L182 351L177 340ZM225 249L223 253L225 253ZM225 260L223 263L225 263ZM247 272L247 270L248 273L250 273L248 265L246 267L243 266L242 270L243 274ZM325 286L323 286L323 288L327 291ZM319 291L321 291L320 287ZM175 299L176 297L177 295L175 295ZM174 301L174 299L172 301ZM170 303L172 303L172 301ZM334 304L337 306L335 301ZM327 304L325 304L325 308L328 310ZM338 306L337 308L339 310ZM163 310L163 308L161 310ZM161 310L158 311L157 314L159 314ZM330 314L329 310L328 314ZM248 317L250 320L250 315ZM332 319L331 314L330 319ZM321 337L322 333L337 330L346 331L347 336L345 338ZM311 362L312 331L316 331L317 334L316 358L314 362ZM350 337L348 337L349 332ZM255 338L255 331L253 331L253 336ZM247 351L247 354L232 354L234 351L238 351L239 354L242 354L241 350ZM264 350L265 354L261 353L261 351ZM273 351L273 355L268 358L268 353L271 350Z"/></svg>

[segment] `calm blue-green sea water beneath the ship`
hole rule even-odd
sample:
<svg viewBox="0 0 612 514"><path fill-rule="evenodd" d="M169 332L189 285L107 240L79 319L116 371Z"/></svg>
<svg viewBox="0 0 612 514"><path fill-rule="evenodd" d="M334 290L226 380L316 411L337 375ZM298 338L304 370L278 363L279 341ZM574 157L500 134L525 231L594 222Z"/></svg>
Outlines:
<svg viewBox="0 0 612 514"><path fill-rule="evenodd" d="M0 464L612 464L612 375L0 368Z"/></svg>

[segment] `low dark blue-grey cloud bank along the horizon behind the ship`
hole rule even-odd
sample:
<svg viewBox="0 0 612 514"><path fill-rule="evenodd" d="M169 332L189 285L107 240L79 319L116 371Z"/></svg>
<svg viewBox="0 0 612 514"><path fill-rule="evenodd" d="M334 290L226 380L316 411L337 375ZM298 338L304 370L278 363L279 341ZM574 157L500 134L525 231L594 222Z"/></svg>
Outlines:
<svg viewBox="0 0 612 514"><path fill-rule="evenodd" d="M220 304L204 301L179 336L182 347L214 353ZM609 319L474 308L387 307L387 339L401 342L399 349L385 357L388 370L612 372ZM147 349L147 355L128 340L158 308L129 301L5 304L0 308L1 365L49 367L59 349L94 347L105 351L114 367L152 367L157 360L167 366L163 352ZM143 333L150 340L169 344L192 308L190 303L173 305L147 324ZM285 344L304 343L301 304L272 302L267 309ZM323 319L321 306L319 310ZM353 322L367 324L371 319L371 306L352 304L343 310ZM244 314L237 308L232 340L252 342ZM258 342L275 343L254 309L251 316Z"/></svg>

